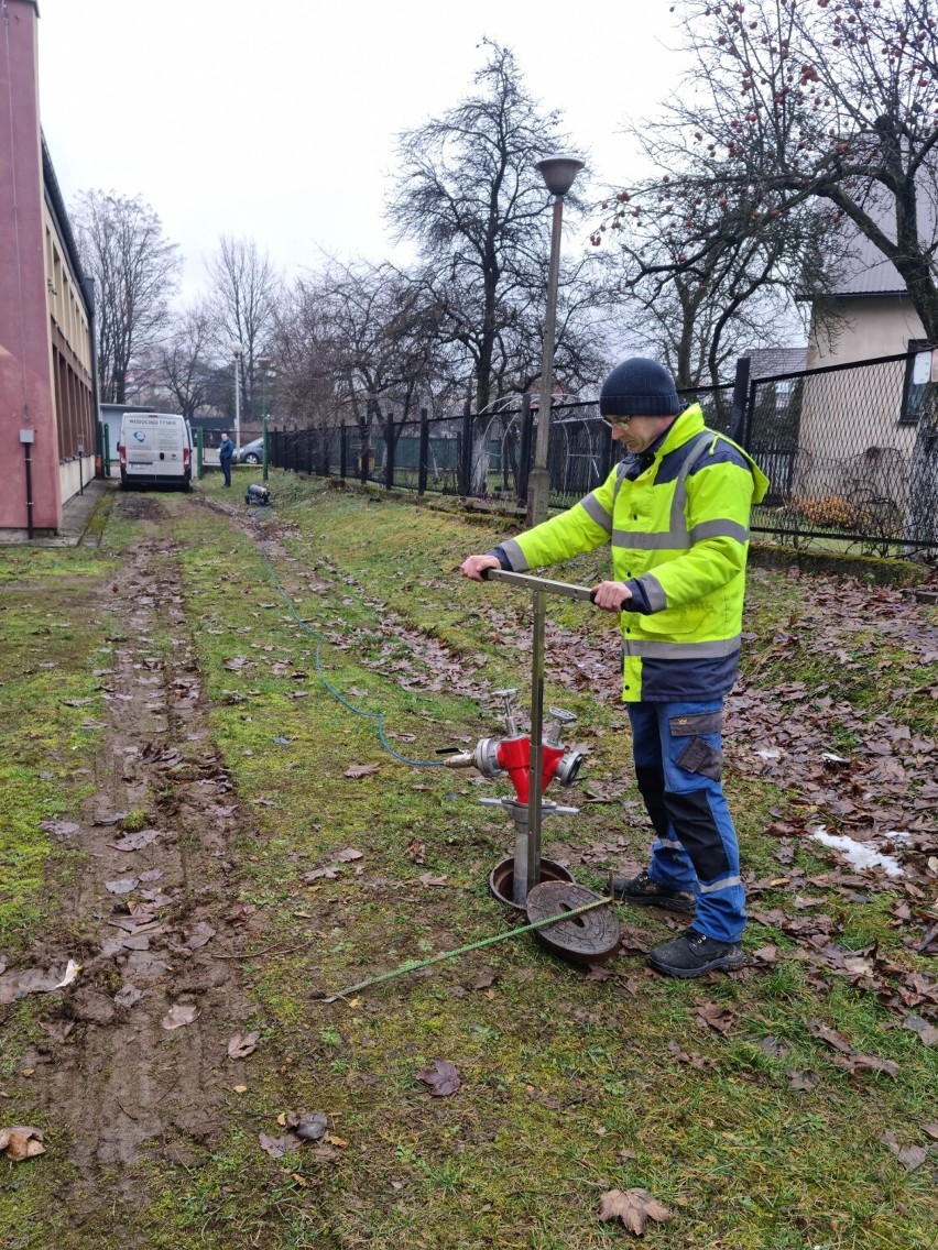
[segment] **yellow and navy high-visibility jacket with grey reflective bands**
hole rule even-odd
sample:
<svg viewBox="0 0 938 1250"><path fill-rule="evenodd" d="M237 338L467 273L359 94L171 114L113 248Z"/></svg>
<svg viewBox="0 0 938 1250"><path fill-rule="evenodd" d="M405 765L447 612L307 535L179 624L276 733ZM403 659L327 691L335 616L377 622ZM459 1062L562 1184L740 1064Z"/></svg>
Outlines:
<svg viewBox="0 0 938 1250"><path fill-rule="evenodd" d="M768 479L692 404L643 456L627 456L568 511L502 544L517 572L612 544L623 699L718 698L737 675L749 510Z"/></svg>

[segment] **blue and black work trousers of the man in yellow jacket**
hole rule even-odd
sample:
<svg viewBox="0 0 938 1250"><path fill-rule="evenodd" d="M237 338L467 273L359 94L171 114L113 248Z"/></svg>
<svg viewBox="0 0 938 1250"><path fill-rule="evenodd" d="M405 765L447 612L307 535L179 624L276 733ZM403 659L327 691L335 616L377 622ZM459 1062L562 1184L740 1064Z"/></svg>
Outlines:
<svg viewBox="0 0 938 1250"><path fill-rule="evenodd" d="M745 891L720 784L723 700L627 708L635 778L658 835L649 875L670 890L694 895L694 929L718 941L739 941Z"/></svg>

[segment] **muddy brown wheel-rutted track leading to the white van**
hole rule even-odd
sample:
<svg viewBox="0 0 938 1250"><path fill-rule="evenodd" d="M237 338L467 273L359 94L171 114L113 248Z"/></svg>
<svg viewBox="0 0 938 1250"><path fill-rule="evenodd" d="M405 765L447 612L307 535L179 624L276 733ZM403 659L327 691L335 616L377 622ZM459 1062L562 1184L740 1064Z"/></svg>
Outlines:
<svg viewBox="0 0 938 1250"><path fill-rule="evenodd" d="M150 524L158 500L118 506L149 532L100 604L106 735L69 838L84 855L65 909L80 939L36 952L44 966L69 958L83 970L46 1021L48 1046L25 1056L85 1179L151 1151L186 1162L223 1129L223 1092L241 1079L228 1044L250 1010L238 951L256 944L256 918L234 904L233 839L250 815L210 748L176 551ZM139 814L123 821L134 831L121 812ZM191 1022L166 1028L175 1019Z"/></svg>

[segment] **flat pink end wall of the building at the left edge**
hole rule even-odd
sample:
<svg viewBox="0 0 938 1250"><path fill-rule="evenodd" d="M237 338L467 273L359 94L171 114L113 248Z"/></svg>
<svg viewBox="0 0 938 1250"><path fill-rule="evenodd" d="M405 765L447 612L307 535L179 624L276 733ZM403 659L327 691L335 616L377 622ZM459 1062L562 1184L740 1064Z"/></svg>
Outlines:
<svg viewBox="0 0 938 1250"><path fill-rule="evenodd" d="M20 430L33 429L33 525L61 522L43 226L38 11L5 0L0 22L0 529L26 529Z"/></svg>

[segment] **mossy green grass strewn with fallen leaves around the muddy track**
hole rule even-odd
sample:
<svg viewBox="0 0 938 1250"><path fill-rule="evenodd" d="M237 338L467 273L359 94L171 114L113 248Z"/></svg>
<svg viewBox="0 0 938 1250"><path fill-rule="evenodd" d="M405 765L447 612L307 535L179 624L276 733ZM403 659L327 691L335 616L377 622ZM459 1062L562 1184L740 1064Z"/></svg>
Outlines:
<svg viewBox="0 0 938 1250"><path fill-rule="evenodd" d="M456 511L374 501L278 472L271 490L276 512L258 514L246 531L198 499L164 504L211 735L253 812L236 858L241 901L265 920L265 935L251 949L268 954L243 969L251 1026L263 1041L248 1064L248 1091L225 1094L225 1134L194 1144L185 1165L154 1151L129 1178L103 1178L114 1192L129 1180L150 1195L133 1211L141 1244L590 1250L628 1238L598 1222L599 1195L640 1186L674 1211L647 1235L668 1250L930 1248L934 1164L907 1171L882 1136L892 1130L902 1142L918 1141L922 1125L934 1119L934 1050L892 1028L894 1018L873 995L840 980L824 985L810 964L787 960L702 985L657 978L633 954L608 965L610 979L593 980L522 938L353 1002L315 998L517 922L485 884L509 851L507 821L477 802L504 788L394 760L381 749L376 716L395 750L426 762L438 759L439 746L499 732L498 716L479 695L527 688L529 654L519 631L528 606L508 588L479 588L454 572L468 551L504 534L498 522L468 524ZM214 479L200 484L199 495L224 498ZM70 636L43 635L41 645L63 649L56 658L70 691L93 689L94 588L133 531L113 518L101 562L81 550L56 552L58 571L44 580L61 580L75 561L65 574L73 579L69 598L54 608L41 602L53 618L68 602ZM296 616L270 581L265 552ZM557 576L589 581L595 568L595 559L580 560ZM6 570L0 552L0 576ZM38 576L35 568L29 575ZM805 648L774 654L789 616L809 611L810 584L793 586L760 571L749 599L748 626L757 636L748 662L759 681L835 686L838 698L870 718L890 706L895 670L864 659L860 670L838 675ZM16 599L8 619L28 649L41 616L26 602ZM608 621L582 605L552 602L550 620L562 654L608 642ZM445 644L459 661L454 674L436 691L401 689L411 672L433 682L439 661L431 642ZM231 669L236 658L248 664ZM19 751L21 770L35 770L50 749L75 759L94 750L79 728L86 709L64 716L61 686L44 685L44 671L29 675L29 689L14 682L13 691L0 690L6 744ZM296 671L308 676L291 676ZM585 684L559 685L559 676L552 668L548 698L580 716L574 736L590 751L584 788L609 785L627 769L622 710L613 699L593 698ZM290 698L298 691L305 696ZM24 731L40 732L41 746L23 739ZM927 731L924 711L919 731ZM345 776L350 764L376 764L379 771L356 780ZM28 822L10 838L8 854L30 860L8 904L8 931L23 950L64 885L54 848L33 848L35 816L66 810L74 782L64 770L54 784L46 779L49 791L34 780ZM735 774L730 788L747 865L775 875L777 844L762 830L787 796ZM628 789L614 802L585 804L575 822L547 826L545 849L562 854L564 845L613 844L622 835L624 849L574 865L578 880L600 885L607 864L644 854L647 828L634 821L634 809L620 806L637 798ZM414 842L423 844L420 864ZM349 848L361 858L339 864L335 878L306 879ZM809 871L824 866L802 850L797 861ZM423 874L444 882L424 885ZM838 940L849 949L878 941L892 958L928 972L928 961L903 948L890 926L890 900L888 890L870 891L868 902L852 905ZM760 905L789 901L769 892ZM623 919L649 941L670 931L654 915ZM777 930L757 925L747 945L769 940L793 949ZM699 1000L733 1012L725 1036L698 1022ZM35 1000L15 1010L11 1019L28 1021ZM813 1020L843 1032L858 1051L893 1060L898 1075L852 1078L812 1034ZM13 1040L15 1054L9 1028L5 1041ZM767 1036L787 1052L767 1052ZM416 1076L436 1059L460 1069L464 1085L453 1098L430 1098ZM11 1059L8 1075L14 1069ZM793 1089L790 1071L810 1075L814 1088ZM310 1148L278 1161L260 1151L258 1134L278 1135L278 1115L298 1108L328 1112L330 1131L348 1142L335 1148L334 1161L318 1161ZM66 1126L53 1141L59 1149L35 1164L14 1171L0 1162L0 1225L16 1230L14 1245L116 1248L121 1236L100 1204L89 1198L91 1215L79 1225L51 1200L69 1184L80 1208L85 1184L65 1161Z"/></svg>

